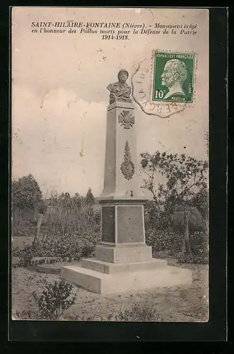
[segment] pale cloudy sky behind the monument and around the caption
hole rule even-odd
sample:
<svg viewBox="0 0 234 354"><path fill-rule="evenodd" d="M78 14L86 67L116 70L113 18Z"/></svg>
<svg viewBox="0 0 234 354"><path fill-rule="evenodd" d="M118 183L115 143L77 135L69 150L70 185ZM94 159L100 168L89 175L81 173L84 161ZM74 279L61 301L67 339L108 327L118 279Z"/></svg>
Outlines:
<svg viewBox="0 0 234 354"><path fill-rule="evenodd" d="M32 33L32 21L197 23L194 36ZM207 159L208 16L202 9L13 8L12 178L28 173L43 195L99 195L104 184L106 86L152 50L196 52L196 101L162 119L135 105L138 154L157 150ZM128 82L130 84L130 82Z"/></svg>

